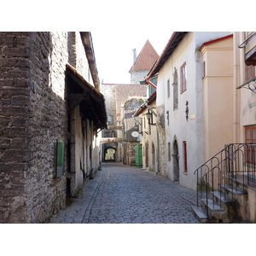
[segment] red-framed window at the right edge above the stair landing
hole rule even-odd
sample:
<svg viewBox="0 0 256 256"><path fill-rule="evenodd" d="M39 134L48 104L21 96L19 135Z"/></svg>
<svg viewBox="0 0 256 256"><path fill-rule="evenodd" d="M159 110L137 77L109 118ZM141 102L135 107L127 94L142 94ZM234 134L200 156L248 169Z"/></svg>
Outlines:
<svg viewBox="0 0 256 256"><path fill-rule="evenodd" d="M256 126L248 126L245 128L245 137L247 144L256 144ZM246 162L256 165L256 146L247 145Z"/></svg>

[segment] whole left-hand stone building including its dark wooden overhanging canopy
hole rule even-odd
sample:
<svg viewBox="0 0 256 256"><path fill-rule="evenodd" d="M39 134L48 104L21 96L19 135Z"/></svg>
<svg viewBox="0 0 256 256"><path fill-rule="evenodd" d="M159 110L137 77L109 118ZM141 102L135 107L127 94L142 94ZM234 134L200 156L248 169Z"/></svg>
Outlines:
<svg viewBox="0 0 256 256"><path fill-rule="evenodd" d="M105 126L106 112L86 42L90 32L0 33L1 223L46 222L66 206L67 196L79 195L96 169L96 130ZM100 122L83 113L82 96L90 102L90 91L102 101L93 109L103 113ZM89 171L89 160L78 154L83 134L94 161Z"/></svg>

